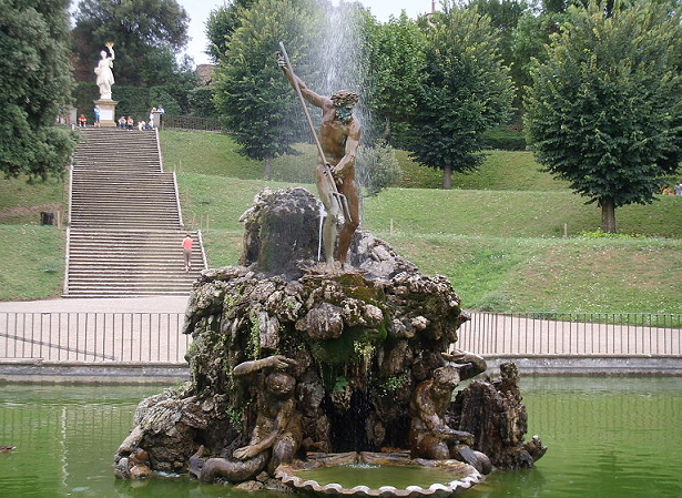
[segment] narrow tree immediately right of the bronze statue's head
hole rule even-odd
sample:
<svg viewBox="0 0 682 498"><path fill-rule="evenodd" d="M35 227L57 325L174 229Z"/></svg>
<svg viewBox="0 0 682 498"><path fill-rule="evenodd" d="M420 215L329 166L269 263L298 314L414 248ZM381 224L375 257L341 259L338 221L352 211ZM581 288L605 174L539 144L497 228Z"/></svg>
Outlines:
<svg viewBox="0 0 682 498"><path fill-rule="evenodd" d="M424 79L426 37L405 11L378 24L366 14L365 51L369 63L364 98L377 121L384 123L383 139L400 136L417 109L416 95ZM395 130L397 128L397 130Z"/></svg>

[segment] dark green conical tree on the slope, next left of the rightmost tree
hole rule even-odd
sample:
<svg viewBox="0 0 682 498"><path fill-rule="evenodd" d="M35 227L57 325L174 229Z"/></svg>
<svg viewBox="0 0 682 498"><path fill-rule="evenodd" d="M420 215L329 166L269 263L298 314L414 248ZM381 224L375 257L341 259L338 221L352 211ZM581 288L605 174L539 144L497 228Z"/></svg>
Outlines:
<svg viewBox="0 0 682 498"><path fill-rule="evenodd" d="M450 189L452 171L482 162L482 132L509 116L513 89L487 17L446 2L426 34L426 75L407 146L423 164L444 170Z"/></svg>

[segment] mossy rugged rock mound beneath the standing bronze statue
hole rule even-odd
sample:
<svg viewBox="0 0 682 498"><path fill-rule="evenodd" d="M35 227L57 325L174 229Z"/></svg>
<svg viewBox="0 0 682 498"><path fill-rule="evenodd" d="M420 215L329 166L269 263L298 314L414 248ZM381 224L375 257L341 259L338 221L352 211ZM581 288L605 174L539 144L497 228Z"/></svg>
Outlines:
<svg viewBox="0 0 682 498"><path fill-rule="evenodd" d="M118 477L130 477L140 450L153 470L264 481L307 453L409 449L414 393L442 369L468 319L449 282L366 231L352 246L354 268L319 271L316 200L303 189L264 191L242 220L242 265L194 284L183 331L191 380L140 404ZM542 447L523 444L518 376L479 384L446 403L446 428L471 433L471 448L498 467L531 466Z"/></svg>

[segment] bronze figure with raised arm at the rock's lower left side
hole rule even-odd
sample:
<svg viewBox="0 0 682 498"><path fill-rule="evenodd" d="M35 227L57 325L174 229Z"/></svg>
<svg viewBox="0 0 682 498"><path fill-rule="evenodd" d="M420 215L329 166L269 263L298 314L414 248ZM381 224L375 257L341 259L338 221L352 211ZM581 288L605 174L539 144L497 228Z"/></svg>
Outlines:
<svg viewBox="0 0 682 498"><path fill-rule="evenodd" d="M285 370L296 362L284 356L268 356L238 364L235 377L248 378L257 388L257 418L247 446L235 449L233 458L203 459L204 447L190 458L190 472L204 482L222 477L241 482L267 467L274 475L281 464L288 464L303 439L301 414L296 410L295 378Z"/></svg>

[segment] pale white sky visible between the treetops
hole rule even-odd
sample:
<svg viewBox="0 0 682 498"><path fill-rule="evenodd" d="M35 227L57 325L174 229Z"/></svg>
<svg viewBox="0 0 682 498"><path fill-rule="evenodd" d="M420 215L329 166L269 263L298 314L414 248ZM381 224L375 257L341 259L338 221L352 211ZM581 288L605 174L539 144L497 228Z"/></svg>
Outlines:
<svg viewBox="0 0 682 498"><path fill-rule="evenodd" d="M187 55L194 58L196 64L211 62L208 57L203 53L208 43L204 34L204 23L211 11L223 4L223 0L177 0L177 2L184 7L190 16L189 34L191 40L187 43ZM338 3L338 0L335 3ZM431 0L360 0L360 3L367 7L380 22L388 21L391 14L398 17L403 10L413 19L431 11ZM438 2L436 3L438 4Z"/></svg>

